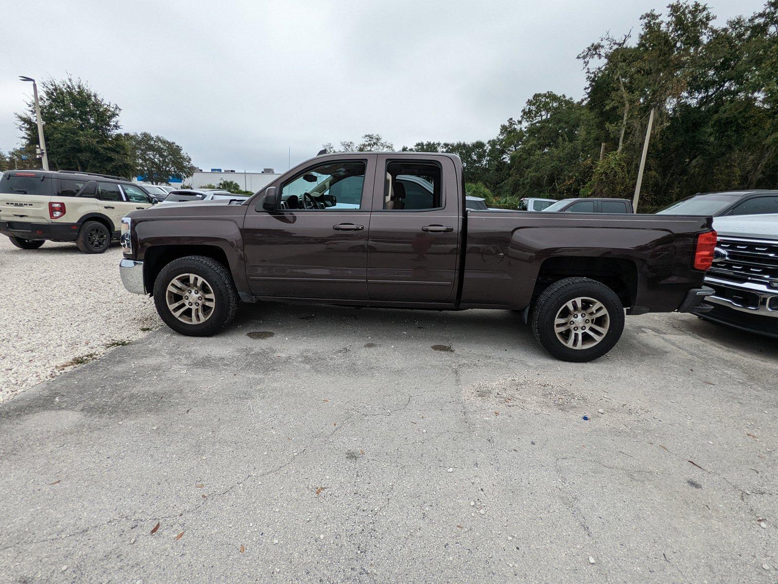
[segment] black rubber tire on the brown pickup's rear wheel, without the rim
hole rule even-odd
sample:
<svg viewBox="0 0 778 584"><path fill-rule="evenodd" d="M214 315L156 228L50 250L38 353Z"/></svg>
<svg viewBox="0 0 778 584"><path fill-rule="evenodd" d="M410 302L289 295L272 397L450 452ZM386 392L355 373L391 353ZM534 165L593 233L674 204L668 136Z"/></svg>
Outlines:
<svg viewBox="0 0 778 584"><path fill-rule="evenodd" d="M591 318L591 314L587 313L587 310L593 305L589 301L576 302L576 299L579 298L597 301L605 307L607 312L604 315L598 312L600 316L597 317L596 321L592 318L590 324L590 320L585 318ZM568 303L571 303L573 307L583 304L574 313L574 319L573 315L567 315L569 308L563 308ZM570 322L574 322L581 329L585 330L585 327L589 327L590 330L587 332L583 332L583 330L573 332L573 325L566 329L559 329L560 336L566 338L573 345L580 344L582 348L571 347L559 338L555 325L558 314L562 314L562 318L571 318ZM577 322L579 317L580 323ZM605 320L606 318L607 320ZM594 329L597 332L592 329L592 325L595 323ZM605 327L606 323L607 327ZM562 326L566 327L566 323L563 323ZM579 330L578 327L575 328L575 331ZM599 332L602 329L607 330L604 335ZM548 353L562 359L562 361L582 363L602 357L615 347L623 330L624 307L619 297L605 284L589 278L565 278L552 283L551 286L543 290L532 312L532 332L534 332L535 338ZM586 343L594 344L586 347Z"/></svg>

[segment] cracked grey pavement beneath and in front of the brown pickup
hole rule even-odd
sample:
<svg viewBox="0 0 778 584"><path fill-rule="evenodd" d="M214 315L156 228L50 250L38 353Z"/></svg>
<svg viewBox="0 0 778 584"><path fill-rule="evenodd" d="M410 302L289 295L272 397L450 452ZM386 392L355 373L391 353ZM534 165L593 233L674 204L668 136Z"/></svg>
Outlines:
<svg viewBox="0 0 778 584"><path fill-rule="evenodd" d="M775 345L647 315L568 364L508 311L291 304L161 329L0 406L0 581L776 582Z"/></svg>

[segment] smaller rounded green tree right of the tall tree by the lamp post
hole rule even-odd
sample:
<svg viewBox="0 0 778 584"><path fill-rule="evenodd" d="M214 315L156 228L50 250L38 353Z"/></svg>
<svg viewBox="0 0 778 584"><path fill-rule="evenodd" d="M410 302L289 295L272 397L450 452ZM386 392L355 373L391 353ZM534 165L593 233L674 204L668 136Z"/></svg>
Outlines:
<svg viewBox="0 0 778 584"><path fill-rule="evenodd" d="M128 134L135 169L152 185L166 183L170 178L183 179L195 172L191 158L176 142L151 135L149 132Z"/></svg>

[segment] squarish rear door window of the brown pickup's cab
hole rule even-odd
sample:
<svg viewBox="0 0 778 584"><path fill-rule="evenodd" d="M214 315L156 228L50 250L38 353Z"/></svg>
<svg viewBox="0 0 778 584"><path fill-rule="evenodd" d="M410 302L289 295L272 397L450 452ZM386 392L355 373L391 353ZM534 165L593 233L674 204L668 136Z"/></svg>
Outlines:
<svg viewBox="0 0 778 584"><path fill-rule="evenodd" d="M390 162L384 182L384 209L440 209L440 166L433 163Z"/></svg>

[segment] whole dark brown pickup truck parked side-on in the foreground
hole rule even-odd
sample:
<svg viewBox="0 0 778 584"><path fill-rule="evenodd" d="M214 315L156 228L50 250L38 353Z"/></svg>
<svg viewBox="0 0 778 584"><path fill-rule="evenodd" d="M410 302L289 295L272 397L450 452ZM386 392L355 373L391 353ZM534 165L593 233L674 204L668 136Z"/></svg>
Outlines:
<svg viewBox="0 0 778 584"><path fill-rule="evenodd" d="M124 286L206 336L238 299L524 311L551 354L590 361L627 314L689 311L710 217L465 208L450 154L324 154L245 202L173 203L122 220ZM699 308L699 307L698 307Z"/></svg>

